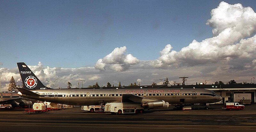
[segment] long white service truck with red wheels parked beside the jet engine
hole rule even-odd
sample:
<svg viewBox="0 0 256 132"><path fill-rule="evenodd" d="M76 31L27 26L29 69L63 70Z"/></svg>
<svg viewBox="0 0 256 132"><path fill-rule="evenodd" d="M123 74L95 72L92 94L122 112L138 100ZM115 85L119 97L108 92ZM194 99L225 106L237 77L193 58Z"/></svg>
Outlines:
<svg viewBox="0 0 256 132"><path fill-rule="evenodd" d="M144 108L141 103L107 103L104 112L111 112L111 114L143 114Z"/></svg>

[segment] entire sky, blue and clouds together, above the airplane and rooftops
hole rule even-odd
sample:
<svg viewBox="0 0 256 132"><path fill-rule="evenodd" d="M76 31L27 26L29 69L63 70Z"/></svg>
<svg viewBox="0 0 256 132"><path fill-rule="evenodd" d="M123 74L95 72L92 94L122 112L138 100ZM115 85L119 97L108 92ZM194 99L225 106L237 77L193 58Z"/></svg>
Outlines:
<svg viewBox="0 0 256 132"><path fill-rule="evenodd" d="M0 1L1 89L12 76L20 84L16 62L51 88L186 76L186 84L251 83L255 10L250 0Z"/></svg>

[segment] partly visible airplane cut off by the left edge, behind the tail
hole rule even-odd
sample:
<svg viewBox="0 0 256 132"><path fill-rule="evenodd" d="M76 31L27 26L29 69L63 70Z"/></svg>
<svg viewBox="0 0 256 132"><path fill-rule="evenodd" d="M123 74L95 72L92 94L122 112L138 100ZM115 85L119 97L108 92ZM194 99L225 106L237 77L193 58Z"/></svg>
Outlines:
<svg viewBox="0 0 256 132"><path fill-rule="evenodd" d="M11 104L12 108L16 107L28 107L32 106L35 100L28 98L23 98L18 95L18 92L1 92L0 93L0 105Z"/></svg>

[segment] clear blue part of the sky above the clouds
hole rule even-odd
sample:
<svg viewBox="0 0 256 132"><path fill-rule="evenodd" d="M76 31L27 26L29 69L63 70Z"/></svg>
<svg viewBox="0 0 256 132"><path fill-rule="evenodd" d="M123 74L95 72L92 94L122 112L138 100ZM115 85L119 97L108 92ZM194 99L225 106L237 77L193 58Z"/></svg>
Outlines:
<svg viewBox="0 0 256 132"><path fill-rule="evenodd" d="M228 1L229 2L229 1ZM255 8L254 1L231 1ZM220 1L1 1L1 67L94 66L116 47L155 60L165 45L180 50L212 37L205 25Z"/></svg>

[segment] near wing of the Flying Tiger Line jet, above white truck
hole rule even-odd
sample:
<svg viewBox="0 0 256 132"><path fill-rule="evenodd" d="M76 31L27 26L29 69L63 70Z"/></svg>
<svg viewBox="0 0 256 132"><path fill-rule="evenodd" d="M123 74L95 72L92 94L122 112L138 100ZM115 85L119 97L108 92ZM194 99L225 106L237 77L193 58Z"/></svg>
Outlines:
<svg viewBox="0 0 256 132"><path fill-rule="evenodd" d="M143 102L156 101L156 100L158 99L149 99L149 98L145 98L145 97L141 97L133 94L123 94L123 98L122 98L123 103L131 103L131 102L143 103Z"/></svg>

